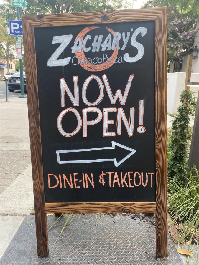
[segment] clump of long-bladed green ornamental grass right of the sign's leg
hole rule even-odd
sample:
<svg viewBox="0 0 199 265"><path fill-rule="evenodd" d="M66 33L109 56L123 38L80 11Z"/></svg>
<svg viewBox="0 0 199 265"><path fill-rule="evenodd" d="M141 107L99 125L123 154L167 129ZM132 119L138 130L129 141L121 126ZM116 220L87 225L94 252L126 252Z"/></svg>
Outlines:
<svg viewBox="0 0 199 265"><path fill-rule="evenodd" d="M199 243L199 175L195 168L185 176L187 183L168 181L168 212L179 229L179 244Z"/></svg>

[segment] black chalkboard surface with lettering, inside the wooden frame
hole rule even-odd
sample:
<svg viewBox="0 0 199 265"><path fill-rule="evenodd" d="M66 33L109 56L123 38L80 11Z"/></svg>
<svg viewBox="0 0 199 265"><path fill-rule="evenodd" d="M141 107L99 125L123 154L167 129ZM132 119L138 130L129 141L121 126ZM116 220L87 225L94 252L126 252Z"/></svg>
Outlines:
<svg viewBox="0 0 199 265"><path fill-rule="evenodd" d="M154 21L34 36L45 202L156 201Z"/></svg>

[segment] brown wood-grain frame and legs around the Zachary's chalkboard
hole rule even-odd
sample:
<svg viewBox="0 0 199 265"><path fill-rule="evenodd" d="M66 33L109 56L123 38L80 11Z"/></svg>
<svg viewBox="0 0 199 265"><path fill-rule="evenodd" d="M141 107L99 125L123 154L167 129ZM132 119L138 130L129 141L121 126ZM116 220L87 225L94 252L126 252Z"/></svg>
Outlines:
<svg viewBox="0 0 199 265"><path fill-rule="evenodd" d="M154 21L156 202L45 203L34 28ZM22 16L37 252L48 256L46 213L156 213L156 257L167 258L167 8Z"/></svg>

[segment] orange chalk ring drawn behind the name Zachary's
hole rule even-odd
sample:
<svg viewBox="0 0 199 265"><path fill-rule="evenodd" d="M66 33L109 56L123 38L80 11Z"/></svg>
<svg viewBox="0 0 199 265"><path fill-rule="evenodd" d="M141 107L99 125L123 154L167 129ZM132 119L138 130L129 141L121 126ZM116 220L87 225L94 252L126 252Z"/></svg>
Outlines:
<svg viewBox="0 0 199 265"><path fill-rule="evenodd" d="M75 42L78 39L78 37L81 37L81 41L83 42L83 38L84 38L85 34L87 32L89 32L90 30L97 29L97 28L100 28L100 27L98 27L98 26L86 27L85 29L80 31L80 33L77 35L77 37L75 39ZM112 29L109 29L109 28L106 28L106 29L109 32L111 32L111 34L114 36L115 32ZM93 71L98 72L98 71L102 71L102 70L105 70L105 69L111 67L114 64L114 60L113 59L117 57L117 54L118 54L118 50L115 47L115 49L113 51L113 54L111 55L111 57L109 57L111 63L106 61L103 64L96 65L96 64L91 64L91 63L90 64L84 64L83 63L85 60L87 60L87 58L86 58L86 56L85 56L85 54L83 52L83 49L81 50L81 52L77 52L77 50L75 52L75 55L76 55L76 57L77 57L77 59L79 61L79 64L81 65L81 67L83 67L85 70L91 71L91 72L93 72Z"/></svg>

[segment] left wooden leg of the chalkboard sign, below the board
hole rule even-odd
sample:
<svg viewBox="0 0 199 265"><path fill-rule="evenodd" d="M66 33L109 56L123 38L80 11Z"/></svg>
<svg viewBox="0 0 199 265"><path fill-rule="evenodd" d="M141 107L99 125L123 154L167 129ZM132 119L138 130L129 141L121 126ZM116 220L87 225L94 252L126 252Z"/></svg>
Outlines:
<svg viewBox="0 0 199 265"><path fill-rule="evenodd" d="M48 256L48 230L45 208L35 209L35 225L37 235L37 255L46 258Z"/></svg>

